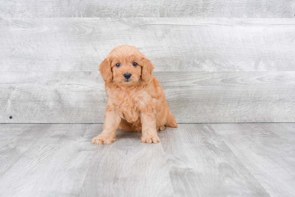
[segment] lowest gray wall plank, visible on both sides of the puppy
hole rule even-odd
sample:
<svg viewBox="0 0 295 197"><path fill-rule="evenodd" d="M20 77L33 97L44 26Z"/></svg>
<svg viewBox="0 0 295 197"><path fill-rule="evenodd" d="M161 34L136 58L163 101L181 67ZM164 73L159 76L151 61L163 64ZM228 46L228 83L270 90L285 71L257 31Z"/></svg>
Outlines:
<svg viewBox="0 0 295 197"><path fill-rule="evenodd" d="M178 123L295 122L295 72L154 72ZM0 74L2 123L103 123L98 71ZM13 116L9 119L9 116Z"/></svg>

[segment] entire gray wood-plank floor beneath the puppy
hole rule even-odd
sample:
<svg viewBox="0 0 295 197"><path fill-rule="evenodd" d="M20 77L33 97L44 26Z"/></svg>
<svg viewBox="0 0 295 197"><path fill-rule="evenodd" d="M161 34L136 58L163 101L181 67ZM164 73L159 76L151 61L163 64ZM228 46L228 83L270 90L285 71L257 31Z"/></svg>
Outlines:
<svg viewBox="0 0 295 197"><path fill-rule="evenodd" d="M295 123L179 124L117 132L102 124L0 124L0 196L294 196Z"/></svg>

